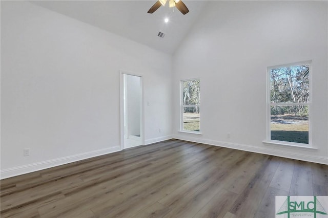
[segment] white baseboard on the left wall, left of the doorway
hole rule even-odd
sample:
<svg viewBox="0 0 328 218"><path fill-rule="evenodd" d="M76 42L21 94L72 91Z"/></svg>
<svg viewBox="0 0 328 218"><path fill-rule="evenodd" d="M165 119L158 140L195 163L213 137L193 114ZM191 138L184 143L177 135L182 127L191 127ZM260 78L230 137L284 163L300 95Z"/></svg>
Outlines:
<svg viewBox="0 0 328 218"><path fill-rule="evenodd" d="M42 170L42 169L47 169L50 167L68 164L68 163L72 163L75 161L93 158L93 157L100 156L100 155L110 154L110 153L113 153L113 152L116 152L119 150L121 150L120 146L116 146L116 147L111 147L111 148L104 148L104 149L94 150L94 151L90 151L90 152L85 152L82 154L71 155L71 156L67 156L67 157L63 157L63 158L57 158L57 159L53 159L53 160L49 160L49 161L42 161L42 162L38 162L38 163L27 164L24 166L18 166L18 167L13 167L13 168L9 168L9 169L4 169L4 170L0 171L0 178L6 179L9 177L22 175L22 174L29 173L29 172L34 172L34 171L38 171L38 170Z"/></svg>

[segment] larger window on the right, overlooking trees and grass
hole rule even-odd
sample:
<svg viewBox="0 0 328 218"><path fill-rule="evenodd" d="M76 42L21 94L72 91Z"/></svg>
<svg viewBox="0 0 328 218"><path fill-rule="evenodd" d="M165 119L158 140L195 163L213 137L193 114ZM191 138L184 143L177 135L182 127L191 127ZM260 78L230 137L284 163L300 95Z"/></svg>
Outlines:
<svg viewBox="0 0 328 218"><path fill-rule="evenodd" d="M268 74L268 140L308 146L311 144L310 61L271 67Z"/></svg>

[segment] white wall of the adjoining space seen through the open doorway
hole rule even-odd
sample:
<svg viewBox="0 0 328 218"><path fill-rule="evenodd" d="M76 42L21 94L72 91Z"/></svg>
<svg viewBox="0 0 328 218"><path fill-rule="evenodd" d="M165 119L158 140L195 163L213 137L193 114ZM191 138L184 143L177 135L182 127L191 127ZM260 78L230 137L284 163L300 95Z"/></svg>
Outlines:
<svg viewBox="0 0 328 218"><path fill-rule="evenodd" d="M127 84L128 137L140 135L140 77L125 74Z"/></svg>

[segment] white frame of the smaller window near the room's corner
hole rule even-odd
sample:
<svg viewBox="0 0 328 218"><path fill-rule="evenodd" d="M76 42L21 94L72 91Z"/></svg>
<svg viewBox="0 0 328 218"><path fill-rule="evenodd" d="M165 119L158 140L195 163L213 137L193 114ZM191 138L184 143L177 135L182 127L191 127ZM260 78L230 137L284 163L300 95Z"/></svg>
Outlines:
<svg viewBox="0 0 328 218"><path fill-rule="evenodd" d="M193 80L199 80L199 90L200 90L200 78L181 79L180 80L180 128L179 128L179 132L200 135L200 134L202 134L200 131L200 113L199 113L199 131L183 129L183 108L184 107L197 107L197 106L200 108L200 99L199 99L199 104L183 104L183 82L193 81ZM200 92L199 92L199 95L201 95Z"/></svg>

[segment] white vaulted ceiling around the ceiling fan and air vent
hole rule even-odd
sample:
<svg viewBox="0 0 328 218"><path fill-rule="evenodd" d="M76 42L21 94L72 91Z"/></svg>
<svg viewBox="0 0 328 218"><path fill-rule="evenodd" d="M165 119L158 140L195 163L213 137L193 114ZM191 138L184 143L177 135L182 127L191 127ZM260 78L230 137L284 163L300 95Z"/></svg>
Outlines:
<svg viewBox="0 0 328 218"><path fill-rule="evenodd" d="M168 4L147 13L153 1L31 1L49 10L132 39L153 49L173 54L188 34L207 1L183 1L189 13L183 15ZM170 20L166 24L164 19ZM164 38L157 36L165 33Z"/></svg>

